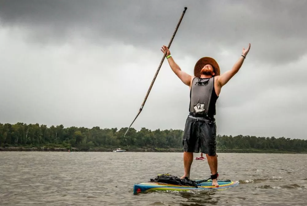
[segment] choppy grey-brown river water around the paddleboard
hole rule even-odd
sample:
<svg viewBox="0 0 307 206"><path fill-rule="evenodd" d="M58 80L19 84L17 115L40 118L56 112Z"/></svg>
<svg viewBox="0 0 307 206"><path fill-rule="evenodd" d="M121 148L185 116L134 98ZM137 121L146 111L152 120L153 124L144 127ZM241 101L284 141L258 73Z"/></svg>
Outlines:
<svg viewBox="0 0 307 206"><path fill-rule="evenodd" d="M307 154L218 155L220 179L237 187L133 195L159 173L180 177L182 153L0 152L0 205L307 205ZM194 160L191 178L208 177Z"/></svg>

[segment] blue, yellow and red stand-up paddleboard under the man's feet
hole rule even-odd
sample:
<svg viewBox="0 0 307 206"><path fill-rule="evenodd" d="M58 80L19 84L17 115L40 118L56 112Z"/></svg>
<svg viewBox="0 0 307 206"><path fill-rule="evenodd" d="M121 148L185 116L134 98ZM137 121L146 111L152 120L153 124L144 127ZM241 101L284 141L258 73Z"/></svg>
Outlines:
<svg viewBox="0 0 307 206"><path fill-rule="evenodd" d="M218 180L219 187L212 186L212 180L198 180L196 181L197 187L194 186L182 186L176 184L167 184L161 182L145 182L134 184L133 193L134 195L139 193L156 192L156 191L189 191L189 190L225 190L228 188L235 187L239 185L239 181L231 180Z"/></svg>

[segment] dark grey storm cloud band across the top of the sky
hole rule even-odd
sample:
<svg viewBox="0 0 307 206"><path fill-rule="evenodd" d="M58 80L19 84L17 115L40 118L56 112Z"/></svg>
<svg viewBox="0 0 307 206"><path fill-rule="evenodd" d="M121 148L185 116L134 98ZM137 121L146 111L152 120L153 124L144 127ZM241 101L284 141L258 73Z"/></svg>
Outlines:
<svg viewBox="0 0 307 206"><path fill-rule="evenodd" d="M173 42L181 54L216 56L252 44L253 61L284 64L307 47L306 1L1 1L1 22L32 30L32 41L59 43L73 35L99 44L115 39L158 50Z"/></svg>

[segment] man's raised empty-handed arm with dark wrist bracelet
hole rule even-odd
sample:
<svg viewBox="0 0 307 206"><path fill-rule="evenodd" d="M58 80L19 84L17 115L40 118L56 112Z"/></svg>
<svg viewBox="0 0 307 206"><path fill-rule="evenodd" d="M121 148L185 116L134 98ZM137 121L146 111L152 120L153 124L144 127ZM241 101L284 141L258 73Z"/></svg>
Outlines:
<svg viewBox="0 0 307 206"><path fill-rule="evenodd" d="M248 48L246 50L243 48L242 55L239 57L238 61L235 62L231 70L221 74L218 77L217 81L219 82L220 87L224 86L239 71L250 48L251 44L248 45Z"/></svg>

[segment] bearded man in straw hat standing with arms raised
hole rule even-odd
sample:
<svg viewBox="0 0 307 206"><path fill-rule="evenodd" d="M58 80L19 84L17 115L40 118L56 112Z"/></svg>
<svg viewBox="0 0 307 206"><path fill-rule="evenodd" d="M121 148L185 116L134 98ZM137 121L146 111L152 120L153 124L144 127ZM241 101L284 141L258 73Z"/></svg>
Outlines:
<svg viewBox="0 0 307 206"><path fill-rule="evenodd" d="M184 148L185 173L181 179L190 178L190 170L193 162L193 153L205 153L211 170L212 185L217 183L217 155L216 155L216 100L221 88L239 71L251 44L242 54L233 67L220 75L218 63L211 57L200 58L194 66L194 76L180 69L175 63L167 46L162 46L169 66L181 81L190 87L189 115L185 122L182 139Z"/></svg>

